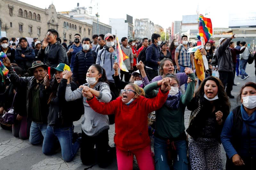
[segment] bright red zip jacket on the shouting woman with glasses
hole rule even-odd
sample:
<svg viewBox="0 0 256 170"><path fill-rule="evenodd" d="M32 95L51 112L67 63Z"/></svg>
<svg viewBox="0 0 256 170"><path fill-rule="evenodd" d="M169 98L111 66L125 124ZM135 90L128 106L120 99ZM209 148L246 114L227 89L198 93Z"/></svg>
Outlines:
<svg viewBox="0 0 256 170"><path fill-rule="evenodd" d="M111 115L115 114L116 147L122 151L144 148L150 145L148 137L147 115L154 110L160 109L169 93L159 90L156 97L147 99L143 96L136 98L130 105L123 103L118 97L109 103L99 102L95 97L87 100L95 112Z"/></svg>

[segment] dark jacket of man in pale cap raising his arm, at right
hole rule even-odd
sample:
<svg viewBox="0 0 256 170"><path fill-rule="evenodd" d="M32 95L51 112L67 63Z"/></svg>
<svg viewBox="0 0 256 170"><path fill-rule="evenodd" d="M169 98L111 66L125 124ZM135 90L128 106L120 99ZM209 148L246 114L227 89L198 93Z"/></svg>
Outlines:
<svg viewBox="0 0 256 170"><path fill-rule="evenodd" d="M232 39L224 41L216 51L218 59L218 71L233 71L233 61L229 46Z"/></svg>

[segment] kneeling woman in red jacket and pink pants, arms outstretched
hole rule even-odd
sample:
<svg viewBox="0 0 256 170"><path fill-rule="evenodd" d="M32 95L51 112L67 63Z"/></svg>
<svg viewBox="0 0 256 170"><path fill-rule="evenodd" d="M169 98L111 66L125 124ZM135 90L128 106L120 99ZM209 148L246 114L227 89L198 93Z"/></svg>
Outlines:
<svg viewBox="0 0 256 170"><path fill-rule="evenodd" d="M132 170L133 156L136 156L140 170L153 170L154 160L148 137L147 115L158 110L164 104L169 93L169 79L163 79L159 93L155 98L146 99L138 85L130 83L121 90L120 97L109 103L99 102L84 87L83 96L95 112L115 114L115 136L118 169Z"/></svg>

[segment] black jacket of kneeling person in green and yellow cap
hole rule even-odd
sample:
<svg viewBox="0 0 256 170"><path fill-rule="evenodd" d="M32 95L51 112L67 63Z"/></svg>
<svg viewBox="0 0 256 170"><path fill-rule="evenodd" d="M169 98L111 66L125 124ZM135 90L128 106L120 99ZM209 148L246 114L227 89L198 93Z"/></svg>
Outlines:
<svg viewBox="0 0 256 170"><path fill-rule="evenodd" d="M62 78L58 86L57 96L50 102L48 125L54 127L70 127L73 125L72 115L76 114L78 104L82 105L82 98L74 101L66 101L66 86L67 79ZM74 82L71 82L70 86L72 91L78 88Z"/></svg>

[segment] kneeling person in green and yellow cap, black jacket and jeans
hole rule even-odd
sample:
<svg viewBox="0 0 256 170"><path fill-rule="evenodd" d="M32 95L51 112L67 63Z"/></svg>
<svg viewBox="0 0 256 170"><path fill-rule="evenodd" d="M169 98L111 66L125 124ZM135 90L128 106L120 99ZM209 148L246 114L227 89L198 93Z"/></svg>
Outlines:
<svg viewBox="0 0 256 170"><path fill-rule="evenodd" d="M66 83L62 79L62 72L70 70L70 67L64 63L60 63L56 68L52 68L51 72L55 73L55 78L51 86L51 94L49 96L48 104L49 115L48 125L43 141L42 151L45 155L54 153L57 139L60 142L62 150L62 158L64 161L71 161L78 149L80 148L80 141L77 140L72 144L72 114L74 108L77 106L76 101L68 102L65 100ZM45 82L48 81L48 74L45 77ZM77 89L76 83L68 79L71 89ZM50 87L48 87L50 88Z"/></svg>

